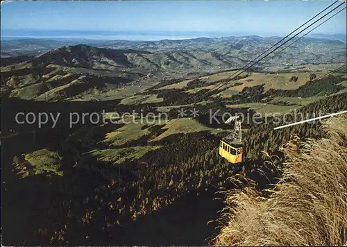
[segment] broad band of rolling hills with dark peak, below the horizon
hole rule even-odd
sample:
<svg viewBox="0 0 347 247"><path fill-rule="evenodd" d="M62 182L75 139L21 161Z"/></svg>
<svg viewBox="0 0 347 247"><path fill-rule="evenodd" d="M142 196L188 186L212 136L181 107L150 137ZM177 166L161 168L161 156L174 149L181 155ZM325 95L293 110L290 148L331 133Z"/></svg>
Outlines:
<svg viewBox="0 0 347 247"><path fill-rule="evenodd" d="M194 78L243 67L260 51L269 48L279 39L280 37L259 36L204 37L158 42L105 41L94 42L93 46L60 46L64 43L51 43L48 40L3 41L1 53L20 50L19 46L24 44L25 49L33 47L33 50L48 51L37 56L1 58L1 92L24 97L23 99L38 97L41 100L60 100L86 94L89 94L88 99L91 99L94 88L101 92L111 88L121 90L120 85L142 87L141 90L126 90L139 92L162 80ZM59 47L51 50L56 46ZM344 42L337 40L304 38L283 51L280 56L258 65L255 69L269 70L273 66L281 65L288 69L293 64L345 62L345 46ZM331 53L331 50L335 52ZM94 83L76 84L75 80L81 76L92 77ZM81 85L81 89L71 90L66 96L55 96L56 91L60 91L58 87L65 85ZM54 90L53 94L49 92L51 90ZM23 96L22 92L26 96ZM50 96L46 97L47 94ZM130 95L121 94L117 97L124 96Z"/></svg>

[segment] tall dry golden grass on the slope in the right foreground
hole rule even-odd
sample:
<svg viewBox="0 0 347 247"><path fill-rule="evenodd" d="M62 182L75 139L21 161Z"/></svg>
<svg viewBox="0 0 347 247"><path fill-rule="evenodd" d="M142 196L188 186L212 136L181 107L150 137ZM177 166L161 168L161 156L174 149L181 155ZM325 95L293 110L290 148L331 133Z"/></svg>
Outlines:
<svg viewBox="0 0 347 247"><path fill-rule="evenodd" d="M285 169L264 198L248 186L229 191L215 246L347 244L347 115L324 124L328 139L283 146Z"/></svg>

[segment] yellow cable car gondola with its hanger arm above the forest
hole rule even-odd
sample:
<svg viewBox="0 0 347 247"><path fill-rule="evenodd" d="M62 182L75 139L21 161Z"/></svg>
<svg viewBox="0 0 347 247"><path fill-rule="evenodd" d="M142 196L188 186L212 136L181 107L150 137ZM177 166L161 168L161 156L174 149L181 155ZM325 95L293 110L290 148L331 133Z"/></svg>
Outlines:
<svg viewBox="0 0 347 247"><path fill-rule="evenodd" d="M221 139L219 143L219 155L232 164L242 162L242 130L239 117L230 117L226 123L235 121L235 127L232 133Z"/></svg>

